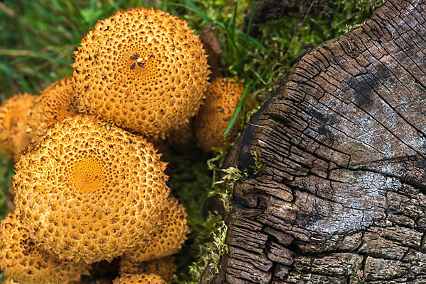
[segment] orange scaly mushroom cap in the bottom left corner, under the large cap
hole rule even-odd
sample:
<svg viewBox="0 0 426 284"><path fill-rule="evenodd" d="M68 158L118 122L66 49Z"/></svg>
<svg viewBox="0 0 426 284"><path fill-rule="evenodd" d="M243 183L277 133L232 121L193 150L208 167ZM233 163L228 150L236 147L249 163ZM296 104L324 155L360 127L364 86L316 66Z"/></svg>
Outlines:
<svg viewBox="0 0 426 284"><path fill-rule="evenodd" d="M9 213L1 221L0 268L9 279L28 284L67 284L80 280L82 275L89 275L83 261L60 261L58 256L38 248L28 235L18 210Z"/></svg>

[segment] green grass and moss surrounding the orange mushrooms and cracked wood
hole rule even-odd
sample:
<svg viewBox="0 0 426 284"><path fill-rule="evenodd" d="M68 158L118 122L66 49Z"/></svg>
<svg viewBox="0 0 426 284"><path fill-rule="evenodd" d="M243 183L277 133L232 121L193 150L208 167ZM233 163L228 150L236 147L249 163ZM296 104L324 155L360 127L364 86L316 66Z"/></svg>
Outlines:
<svg viewBox="0 0 426 284"><path fill-rule="evenodd" d="M249 0L0 1L0 100L14 93L39 93L40 89L72 74L72 52L98 19L132 6L153 6L184 18L196 33L205 25L213 25L222 44L226 65L223 73L229 77L239 76L246 84L229 130L240 112L246 114L248 99L260 106L302 54L325 40L344 34L348 27L363 23L383 0L331 0L324 7L320 7L321 3L312 2L312 7L303 13L294 11L278 20L251 25L256 2ZM257 32L251 33L253 29ZM197 280L207 262L226 252L223 220L214 213L202 212L208 193L224 195L222 199L230 203L225 196L229 192L217 183L220 161L226 150L210 160L210 169L215 171L207 167L207 160L212 158L207 154L180 147L174 147L172 152L174 156L169 157L170 161L177 166L172 170L169 184L173 194L187 208L192 230L179 256L179 279L174 282L191 283ZM261 165L258 167L260 169ZM0 195L0 217L8 211L7 188L12 175L11 162L0 157L3 193ZM209 242L212 240L216 242Z"/></svg>

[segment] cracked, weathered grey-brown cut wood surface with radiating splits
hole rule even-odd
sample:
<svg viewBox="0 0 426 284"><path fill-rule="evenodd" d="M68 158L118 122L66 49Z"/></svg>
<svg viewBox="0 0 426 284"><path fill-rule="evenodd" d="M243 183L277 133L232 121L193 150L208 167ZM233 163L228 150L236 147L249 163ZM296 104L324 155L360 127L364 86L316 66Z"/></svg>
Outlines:
<svg viewBox="0 0 426 284"><path fill-rule="evenodd" d="M202 283L426 283L425 9L388 1L253 117L225 164L250 174L229 254Z"/></svg>

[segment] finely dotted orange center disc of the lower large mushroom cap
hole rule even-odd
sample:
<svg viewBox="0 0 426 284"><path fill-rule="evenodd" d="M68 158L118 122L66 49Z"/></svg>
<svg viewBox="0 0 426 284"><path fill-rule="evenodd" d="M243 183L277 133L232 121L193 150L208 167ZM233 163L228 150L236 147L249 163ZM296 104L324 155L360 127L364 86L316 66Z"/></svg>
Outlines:
<svg viewBox="0 0 426 284"><path fill-rule="evenodd" d="M70 166L70 177L76 191L80 193L97 191L105 181L102 164L93 158L75 161Z"/></svg>

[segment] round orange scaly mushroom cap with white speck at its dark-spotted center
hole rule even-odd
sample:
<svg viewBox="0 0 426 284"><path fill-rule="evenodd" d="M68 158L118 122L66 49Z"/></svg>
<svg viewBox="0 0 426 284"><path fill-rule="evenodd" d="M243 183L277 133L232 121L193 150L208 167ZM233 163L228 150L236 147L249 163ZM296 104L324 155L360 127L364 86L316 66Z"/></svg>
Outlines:
<svg viewBox="0 0 426 284"><path fill-rule="evenodd" d="M155 138L197 114L209 75L202 43L187 22L148 8L98 21L72 67L82 113Z"/></svg>

